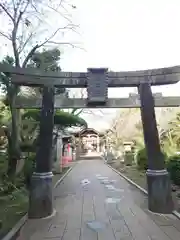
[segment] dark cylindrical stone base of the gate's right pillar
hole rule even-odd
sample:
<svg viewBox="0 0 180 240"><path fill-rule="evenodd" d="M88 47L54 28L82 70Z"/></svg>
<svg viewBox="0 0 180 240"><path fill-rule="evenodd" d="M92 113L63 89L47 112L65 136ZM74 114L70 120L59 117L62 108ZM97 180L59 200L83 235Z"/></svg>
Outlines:
<svg viewBox="0 0 180 240"><path fill-rule="evenodd" d="M148 205L155 213L173 211L170 178L167 170L147 170Z"/></svg>

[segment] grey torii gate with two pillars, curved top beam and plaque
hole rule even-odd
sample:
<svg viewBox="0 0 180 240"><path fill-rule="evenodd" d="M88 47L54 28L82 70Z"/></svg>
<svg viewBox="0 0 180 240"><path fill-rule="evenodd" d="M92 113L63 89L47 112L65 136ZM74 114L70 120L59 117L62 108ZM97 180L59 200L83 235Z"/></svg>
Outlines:
<svg viewBox="0 0 180 240"><path fill-rule="evenodd" d="M180 80L180 66L130 72L108 72L107 68L89 68L87 72L55 73L37 69L14 68L0 64L0 71L11 73L14 84L34 87L44 86L42 103L39 102L39 107L42 104L41 140L36 157L36 172L32 176L30 218L49 216L53 211L51 147L46 146L51 146L52 143L54 86L63 88L87 87L88 98L84 103L86 107L112 107L114 104L111 100L109 100L111 104L108 104L108 87L138 88L140 102L137 106L141 108L144 140L148 155L149 209L158 213L172 212L170 180L160 149L151 85L177 83ZM121 101L119 100L118 107L121 107Z"/></svg>

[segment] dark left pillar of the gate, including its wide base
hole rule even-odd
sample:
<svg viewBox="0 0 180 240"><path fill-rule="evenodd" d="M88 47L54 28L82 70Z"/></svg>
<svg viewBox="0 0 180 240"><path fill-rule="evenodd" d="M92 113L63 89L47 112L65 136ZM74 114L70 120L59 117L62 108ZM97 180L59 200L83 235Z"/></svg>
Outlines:
<svg viewBox="0 0 180 240"><path fill-rule="evenodd" d="M43 88L39 146L36 171L33 173L29 199L29 218L52 214L52 143L54 127L54 87Z"/></svg>

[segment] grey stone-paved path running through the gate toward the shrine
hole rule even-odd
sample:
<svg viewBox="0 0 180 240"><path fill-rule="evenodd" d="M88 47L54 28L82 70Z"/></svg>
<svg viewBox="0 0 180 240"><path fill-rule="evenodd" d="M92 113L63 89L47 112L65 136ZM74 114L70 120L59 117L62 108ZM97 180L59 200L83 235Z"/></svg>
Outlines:
<svg viewBox="0 0 180 240"><path fill-rule="evenodd" d="M116 180L119 191L107 189L97 174ZM90 183L84 188L81 180ZM57 214L28 220L18 240L179 240L180 220L148 212L147 197L111 170L102 160L79 161L55 190ZM120 202L106 203L107 198ZM111 199L113 200L113 199ZM101 224L97 232L88 221Z"/></svg>

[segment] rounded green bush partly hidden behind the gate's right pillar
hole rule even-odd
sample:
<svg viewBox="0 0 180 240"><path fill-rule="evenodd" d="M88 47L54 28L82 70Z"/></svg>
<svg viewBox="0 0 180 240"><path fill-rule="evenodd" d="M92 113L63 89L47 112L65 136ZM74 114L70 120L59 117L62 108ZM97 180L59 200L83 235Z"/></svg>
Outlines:
<svg viewBox="0 0 180 240"><path fill-rule="evenodd" d="M163 154L164 160L166 162L167 154L165 152L163 152L162 154ZM148 169L148 159L147 159L146 148L142 148L137 152L136 163L137 163L139 170L147 170Z"/></svg>

